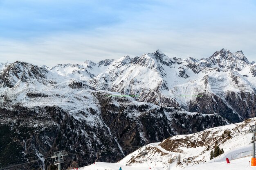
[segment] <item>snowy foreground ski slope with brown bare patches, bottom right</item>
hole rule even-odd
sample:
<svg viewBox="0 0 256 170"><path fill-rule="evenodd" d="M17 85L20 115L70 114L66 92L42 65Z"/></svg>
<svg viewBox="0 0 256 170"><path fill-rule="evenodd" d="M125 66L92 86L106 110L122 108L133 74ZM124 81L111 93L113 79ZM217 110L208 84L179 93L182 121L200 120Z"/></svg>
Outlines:
<svg viewBox="0 0 256 170"><path fill-rule="evenodd" d="M250 166L252 158L252 133L249 133L249 127L256 124L256 118L252 118L237 124L219 126L216 128L207 129L190 135L177 135L165 139L163 142L148 144L139 148L135 152L127 155L124 159L117 163L95 162L90 166L79 168L79 170L248 170L256 169ZM225 138L223 132L229 131L231 137ZM216 146L209 143L210 149L207 146L189 147L182 144L182 139L200 143L204 134L204 140L216 139L217 144L223 148L224 154L210 160L210 152ZM166 143L181 142L176 145L176 150L172 152L166 150ZM177 142L177 143L179 143ZM216 143L215 140L213 142ZM172 144L177 144L172 143ZM164 146L165 148L163 148ZM178 163L180 157L180 163ZM230 163L227 163L226 158L229 158Z"/></svg>

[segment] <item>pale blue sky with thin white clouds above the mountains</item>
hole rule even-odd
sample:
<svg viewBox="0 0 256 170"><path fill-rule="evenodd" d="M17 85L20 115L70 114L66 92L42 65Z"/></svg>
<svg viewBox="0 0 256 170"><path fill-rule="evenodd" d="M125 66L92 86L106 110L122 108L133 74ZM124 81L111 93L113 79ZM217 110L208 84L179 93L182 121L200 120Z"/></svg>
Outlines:
<svg viewBox="0 0 256 170"><path fill-rule="evenodd" d="M99 62L157 49L256 61L255 0L0 0L0 62Z"/></svg>

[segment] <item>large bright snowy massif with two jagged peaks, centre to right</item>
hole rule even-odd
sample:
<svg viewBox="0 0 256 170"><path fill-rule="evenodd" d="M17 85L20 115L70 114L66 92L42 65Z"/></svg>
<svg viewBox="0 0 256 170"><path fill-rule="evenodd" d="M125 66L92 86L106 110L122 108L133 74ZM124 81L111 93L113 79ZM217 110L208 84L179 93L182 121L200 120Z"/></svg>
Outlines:
<svg viewBox="0 0 256 170"><path fill-rule="evenodd" d="M105 72L90 79L89 84L98 90L137 95L140 101L164 107L180 106L188 111L200 111L202 108L195 96L209 94L217 97L211 104L221 100L226 108L216 106L204 109L205 113L226 110L238 115L229 118L238 122L241 120L240 110L232 106L238 103L232 104L230 100L256 94L254 69L255 64L250 63L241 51L232 54L222 49L206 59L182 60L171 59L157 50L133 59L122 57L110 64ZM231 96L236 97L230 99ZM252 102L254 98L249 100ZM248 107L246 110L246 113L254 115L255 109Z"/></svg>

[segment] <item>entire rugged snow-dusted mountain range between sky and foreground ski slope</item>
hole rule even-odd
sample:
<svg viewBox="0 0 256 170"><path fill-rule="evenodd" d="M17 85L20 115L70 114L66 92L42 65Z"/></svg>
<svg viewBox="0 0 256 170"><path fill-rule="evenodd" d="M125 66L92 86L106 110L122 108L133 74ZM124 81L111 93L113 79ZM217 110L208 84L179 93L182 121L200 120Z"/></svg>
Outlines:
<svg viewBox="0 0 256 170"><path fill-rule="evenodd" d="M140 146L241 122L255 116L255 77L256 64L242 51L224 49L200 60L169 58L157 50L53 68L0 64L0 167L57 150ZM133 96L110 96L118 94ZM64 167L117 161L132 151L66 157ZM51 163L19 168L47 169Z"/></svg>

